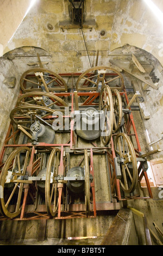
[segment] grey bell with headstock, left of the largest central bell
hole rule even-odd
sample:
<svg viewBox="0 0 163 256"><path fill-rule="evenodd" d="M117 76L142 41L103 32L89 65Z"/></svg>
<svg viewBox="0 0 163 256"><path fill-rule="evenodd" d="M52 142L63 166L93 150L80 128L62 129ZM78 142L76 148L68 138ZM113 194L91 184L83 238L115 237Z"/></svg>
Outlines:
<svg viewBox="0 0 163 256"><path fill-rule="evenodd" d="M35 120L35 123L30 126L30 130L33 144L37 142L54 143L55 131L51 127L41 124L39 120Z"/></svg>

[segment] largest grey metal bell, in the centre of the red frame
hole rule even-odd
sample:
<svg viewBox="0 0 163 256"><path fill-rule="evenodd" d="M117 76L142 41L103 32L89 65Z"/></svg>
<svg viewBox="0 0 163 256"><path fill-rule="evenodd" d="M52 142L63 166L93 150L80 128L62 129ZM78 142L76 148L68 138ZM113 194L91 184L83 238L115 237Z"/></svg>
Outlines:
<svg viewBox="0 0 163 256"><path fill-rule="evenodd" d="M76 121L76 132L86 140L97 139L101 135L99 112L92 107L86 108Z"/></svg>

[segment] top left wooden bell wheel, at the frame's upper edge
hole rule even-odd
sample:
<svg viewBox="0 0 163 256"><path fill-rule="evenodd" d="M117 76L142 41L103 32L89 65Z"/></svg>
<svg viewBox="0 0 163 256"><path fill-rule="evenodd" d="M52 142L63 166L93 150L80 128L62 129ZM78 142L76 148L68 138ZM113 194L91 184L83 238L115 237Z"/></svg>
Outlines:
<svg viewBox="0 0 163 256"><path fill-rule="evenodd" d="M63 78L55 72L43 68L29 69L24 72L20 78L20 86L26 93L36 90L45 90L47 93L67 92L67 84Z"/></svg>

